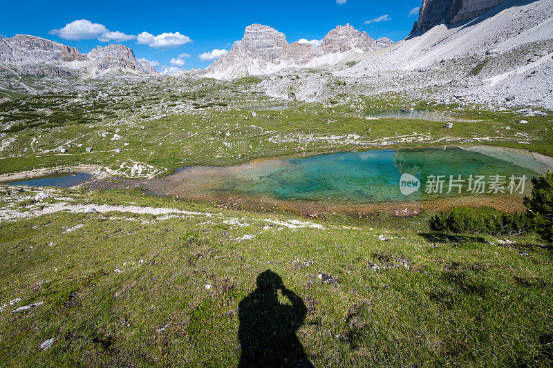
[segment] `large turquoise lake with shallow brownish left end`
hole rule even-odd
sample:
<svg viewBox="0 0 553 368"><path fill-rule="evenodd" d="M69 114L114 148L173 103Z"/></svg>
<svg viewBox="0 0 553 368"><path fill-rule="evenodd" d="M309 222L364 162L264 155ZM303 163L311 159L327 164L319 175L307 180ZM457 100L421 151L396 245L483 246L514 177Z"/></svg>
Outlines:
<svg viewBox="0 0 553 368"><path fill-rule="evenodd" d="M155 191L184 197L236 195L337 204L411 202L453 195L477 196L478 193L468 191L469 175L483 175L485 182L491 180L491 175L505 176L503 189L507 193L511 175L517 179L526 175L525 193L528 193L530 177L546 171L547 166L539 162L532 164L528 159L524 166L460 148L374 150L303 159L272 159L222 168L194 166L161 180ZM420 180L418 191L402 194L400 177L404 173ZM442 193L424 193L431 175L444 175ZM465 180L460 183L461 194L457 186L447 193L450 175L453 179L462 175L461 179ZM516 180L516 184L519 181ZM485 184L485 194L490 194L488 186ZM523 193L513 195L521 197Z"/></svg>

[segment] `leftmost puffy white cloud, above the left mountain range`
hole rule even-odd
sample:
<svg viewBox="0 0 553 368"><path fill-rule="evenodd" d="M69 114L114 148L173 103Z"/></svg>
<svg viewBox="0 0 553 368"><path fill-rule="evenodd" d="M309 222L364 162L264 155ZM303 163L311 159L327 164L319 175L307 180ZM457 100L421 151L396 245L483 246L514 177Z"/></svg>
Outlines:
<svg viewBox="0 0 553 368"><path fill-rule="evenodd" d="M98 41L128 41L135 36L125 35L123 32L108 30L106 26L100 23L92 23L86 19L77 19L67 23L64 28L59 30L50 30L50 35L57 35L62 39L98 39Z"/></svg>

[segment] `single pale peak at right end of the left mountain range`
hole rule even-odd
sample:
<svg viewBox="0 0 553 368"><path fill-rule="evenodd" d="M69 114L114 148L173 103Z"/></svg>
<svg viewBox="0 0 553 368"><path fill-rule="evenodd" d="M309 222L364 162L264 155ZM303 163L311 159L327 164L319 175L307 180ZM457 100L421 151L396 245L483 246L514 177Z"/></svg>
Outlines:
<svg viewBox="0 0 553 368"><path fill-rule="evenodd" d="M108 70L109 68L130 68L138 72L151 73L156 72L150 64L140 63L134 56L133 50L124 45L111 44L105 47L97 46L91 52L88 52L88 59L95 61L95 66L99 70Z"/></svg>

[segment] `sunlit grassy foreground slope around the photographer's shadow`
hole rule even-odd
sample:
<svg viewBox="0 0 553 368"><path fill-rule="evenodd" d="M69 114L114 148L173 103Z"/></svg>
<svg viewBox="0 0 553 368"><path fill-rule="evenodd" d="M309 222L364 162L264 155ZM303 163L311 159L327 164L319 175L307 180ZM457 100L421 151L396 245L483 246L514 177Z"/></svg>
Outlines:
<svg viewBox="0 0 553 368"><path fill-rule="evenodd" d="M4 191L1 206L41 204L32 204L35 192L8 200L14 194ZM0 313L0 366L234 365L238 303L266 269L308 305L297 335L317 366L552 364L553 256L533 236L513 245L427 240L426 215L327 215L317 221L325 229L263 229L272 225L265 218L295 217L136 193L60 196L212 216L55 213L1 222L0 305L22 300ZM225 224L232 218L249 225ZM65 231L76 224L84 226ZM256 238L236 240L245 234ZM320 271L339 281L321 282ZM33 302L44 304L11 313ZM38 348L50 338L52 348Z"/></svg>

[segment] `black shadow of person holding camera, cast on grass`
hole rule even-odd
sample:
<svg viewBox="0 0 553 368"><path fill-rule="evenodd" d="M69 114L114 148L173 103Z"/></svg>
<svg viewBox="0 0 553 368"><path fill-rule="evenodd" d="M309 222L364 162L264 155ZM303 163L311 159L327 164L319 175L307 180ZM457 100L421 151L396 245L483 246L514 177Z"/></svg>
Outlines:
<svg viewBox="0 0 553 368"><path fill-rule="evenodd" d="M313 367L296 336L306 318L303 300L271 270L257 276L257 289L238 305L239 367ZM280 304L278 291L290 304Z"/></svg>

